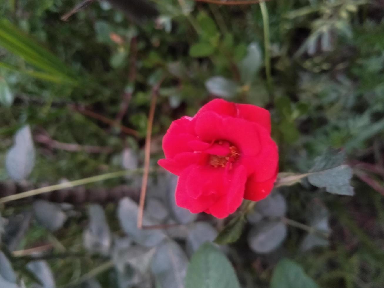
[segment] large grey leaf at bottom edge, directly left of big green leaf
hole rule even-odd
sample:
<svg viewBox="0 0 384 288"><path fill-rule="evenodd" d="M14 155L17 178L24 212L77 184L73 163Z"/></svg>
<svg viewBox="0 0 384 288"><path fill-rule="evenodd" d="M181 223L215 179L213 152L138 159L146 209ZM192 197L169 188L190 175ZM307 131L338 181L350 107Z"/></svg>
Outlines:
<svg viewBox="0 0 384 288"><path fill-rule="evenodd" d="M151 270L162 287L184 288L187 266L188 258L180 246L166 240L157 247Z"/></svg>

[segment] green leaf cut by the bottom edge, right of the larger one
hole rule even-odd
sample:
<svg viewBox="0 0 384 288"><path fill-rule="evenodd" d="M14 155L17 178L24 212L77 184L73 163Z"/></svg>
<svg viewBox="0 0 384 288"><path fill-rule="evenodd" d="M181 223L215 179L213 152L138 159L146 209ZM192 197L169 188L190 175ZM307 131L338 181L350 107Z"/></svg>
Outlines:
<svg viewBox="0 0 384 288"><path fill-rule="evenodd" d="M283 259L273 271L271 288L318 288L319 286L305 274L295 262Z"/></svg>

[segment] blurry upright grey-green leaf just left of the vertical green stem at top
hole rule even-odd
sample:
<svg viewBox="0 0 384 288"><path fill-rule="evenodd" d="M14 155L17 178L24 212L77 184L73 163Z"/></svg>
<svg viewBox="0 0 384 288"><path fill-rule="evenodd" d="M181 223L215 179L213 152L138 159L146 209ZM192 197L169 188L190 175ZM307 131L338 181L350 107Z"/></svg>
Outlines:
<svg viewBox="0 0 384 288"><path fill-rule="evenodd" d="M250 85L263 64L263 55L256 42L248 45L247 55L239 64L241 80Z"/></svg>

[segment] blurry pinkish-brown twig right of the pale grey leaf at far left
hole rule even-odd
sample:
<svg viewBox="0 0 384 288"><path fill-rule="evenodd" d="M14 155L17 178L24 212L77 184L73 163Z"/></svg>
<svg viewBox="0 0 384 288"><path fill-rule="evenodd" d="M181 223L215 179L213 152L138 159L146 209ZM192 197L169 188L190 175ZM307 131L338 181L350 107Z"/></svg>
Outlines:
<svg viewBox="0 0 384 288"><path fill-rule="evenodd" d="M72 143L64 143L53 140L48 134L37 134L34 137L35 141L45 144L54 149L60 149L64 151L70 152L81 152L84 151L86 153L111 153L113 150L111 147L102 147L102 146L91 146L91 145L79 145Z"/></svg>

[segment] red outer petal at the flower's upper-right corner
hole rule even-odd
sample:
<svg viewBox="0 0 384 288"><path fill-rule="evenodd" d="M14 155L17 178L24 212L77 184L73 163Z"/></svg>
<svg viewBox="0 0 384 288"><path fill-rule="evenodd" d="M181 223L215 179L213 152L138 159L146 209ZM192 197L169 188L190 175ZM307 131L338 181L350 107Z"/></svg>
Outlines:
<svg viewBox="0 0 384 288"><path fill-rule="evenodd" d="M252 104L236 104L237 117L256 122L271 133L271 115L268 110Z"/></svg>

